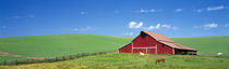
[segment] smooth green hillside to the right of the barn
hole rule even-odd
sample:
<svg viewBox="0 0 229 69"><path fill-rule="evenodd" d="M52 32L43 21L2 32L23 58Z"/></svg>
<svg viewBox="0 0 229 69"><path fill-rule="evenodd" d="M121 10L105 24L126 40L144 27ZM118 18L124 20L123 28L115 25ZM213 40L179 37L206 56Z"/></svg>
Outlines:
<svg viewBox="0 0 229 69"><path fill-rule="evenodd" d="M229 36L200 37L200 38L172 38L179 44L196 49L202 53L229 53ZM202 54L204 55L204 54Z"/></svg>

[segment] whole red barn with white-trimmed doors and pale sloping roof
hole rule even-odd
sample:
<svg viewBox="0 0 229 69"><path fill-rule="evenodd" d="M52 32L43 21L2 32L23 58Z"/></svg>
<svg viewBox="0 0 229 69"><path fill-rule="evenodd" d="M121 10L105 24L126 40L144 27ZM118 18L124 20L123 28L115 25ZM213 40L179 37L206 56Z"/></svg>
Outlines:
<svg viewBox="0 0 229 69"><path fill-rule="evenodd" d="M131 43L119 49L119 53L145 54L182 54L196 55L196 50L174 43L171 39L160 33L141 31Z"/></svg>

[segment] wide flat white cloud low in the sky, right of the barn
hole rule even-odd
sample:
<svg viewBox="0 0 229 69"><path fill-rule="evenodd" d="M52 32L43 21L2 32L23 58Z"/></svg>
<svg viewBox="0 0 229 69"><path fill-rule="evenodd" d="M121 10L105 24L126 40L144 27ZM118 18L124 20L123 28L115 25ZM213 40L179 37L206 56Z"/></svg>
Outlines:
<svg viewBox="0 0 229 69"><path fill-rule="evenodd" d="M212 28L217 28L218 24L212 23L212 24L205 24L202 26L194 26L194 28L203 28L204 30L209 30Z"/></svg>

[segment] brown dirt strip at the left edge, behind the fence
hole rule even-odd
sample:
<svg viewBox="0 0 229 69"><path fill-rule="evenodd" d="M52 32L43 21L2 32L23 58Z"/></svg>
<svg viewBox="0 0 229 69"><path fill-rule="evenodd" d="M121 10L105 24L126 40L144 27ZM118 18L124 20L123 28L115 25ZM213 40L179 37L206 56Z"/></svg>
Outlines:
<svg viewBox="0 0 229 69"><path fill-rule="evenodd" d="M23 58L28 58L28 59L46 59L45 57L28 57L28 56L12 54L12 53L2 52L2 51L0 51L0 56L23 57Z"/></svg>

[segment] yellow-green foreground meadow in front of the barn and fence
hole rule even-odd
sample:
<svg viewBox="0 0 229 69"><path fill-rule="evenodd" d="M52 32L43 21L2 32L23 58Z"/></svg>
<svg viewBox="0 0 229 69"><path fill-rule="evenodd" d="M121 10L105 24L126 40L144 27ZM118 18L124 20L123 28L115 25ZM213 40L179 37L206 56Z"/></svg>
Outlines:
<svg viewBox="0 0 229 69"><path fill-rule="evenodd" d="M166 64L155 65L164 57ZM58 63L0 66L0 69L228 69L229 59L210 56L105 54Z"/></svg>

